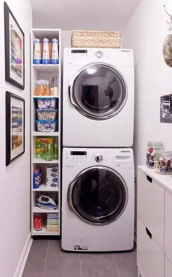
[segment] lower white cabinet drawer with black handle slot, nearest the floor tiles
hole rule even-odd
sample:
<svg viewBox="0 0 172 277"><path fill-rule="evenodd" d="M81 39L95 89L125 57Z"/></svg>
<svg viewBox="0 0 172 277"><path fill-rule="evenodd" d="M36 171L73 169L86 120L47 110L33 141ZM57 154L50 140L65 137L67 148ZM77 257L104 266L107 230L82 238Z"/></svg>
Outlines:
<svg viewBox="0 0 172 277"><path fill-rule="evenodd" d="M137 263L144 277L164 277L164 252L138 217Z"/></svg>

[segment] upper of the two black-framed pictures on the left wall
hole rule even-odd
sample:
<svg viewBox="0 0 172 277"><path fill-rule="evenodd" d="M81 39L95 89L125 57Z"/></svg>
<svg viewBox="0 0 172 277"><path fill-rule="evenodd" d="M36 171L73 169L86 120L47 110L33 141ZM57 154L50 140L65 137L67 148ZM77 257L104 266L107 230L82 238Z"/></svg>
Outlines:
<svg viewBox="0 0 172 277"><path fill-rule="evenodd" d="M24 90L24 33L4 2L5 81Z"/></svg>

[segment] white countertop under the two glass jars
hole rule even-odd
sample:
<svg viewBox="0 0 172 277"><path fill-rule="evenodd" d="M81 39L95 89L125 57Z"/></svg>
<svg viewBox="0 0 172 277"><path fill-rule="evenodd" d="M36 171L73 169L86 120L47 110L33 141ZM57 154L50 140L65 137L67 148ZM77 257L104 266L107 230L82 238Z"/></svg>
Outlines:
<svg viewBox="0 0 172 277"><path fill-rule="evenodd" d="M172 175L158 174L154 171L154 168L149 168L146 165L139 165L138 170L141 170L145 174L149 175L153 180L159 183L162 187L172 192Z"/></svg>

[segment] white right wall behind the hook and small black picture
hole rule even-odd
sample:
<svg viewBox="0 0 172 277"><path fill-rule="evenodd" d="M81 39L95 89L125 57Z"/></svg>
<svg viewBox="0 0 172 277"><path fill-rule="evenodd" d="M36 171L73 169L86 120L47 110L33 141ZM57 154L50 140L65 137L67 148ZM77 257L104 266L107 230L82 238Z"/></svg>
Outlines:
<svg viewBox="0 0 172 277"><path fill-rule="evenodd" d="M166 150L172 150L172 124L160 123L160 95L172 93L172 68L162 53L169 27L163 4L170 7L170 0L142 0L123 31L122 46L134 50L136 168L145 164L149 140L162 141ZM168 11L172 14L172 6Z"/></svg>

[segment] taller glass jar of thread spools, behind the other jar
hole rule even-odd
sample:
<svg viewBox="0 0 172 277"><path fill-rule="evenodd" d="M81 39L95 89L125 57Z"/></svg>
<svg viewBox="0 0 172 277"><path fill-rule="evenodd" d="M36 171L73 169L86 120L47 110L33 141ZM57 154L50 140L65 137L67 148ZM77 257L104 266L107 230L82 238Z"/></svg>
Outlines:
<svg viewBox="0 0 172 277"><path fill-rule="evenodd" d="M154 168L154 158L156 155L156 152L163 150L163 143L162 142L148 142L148 148L146 151L146 165L149 168Z"/></svg>

